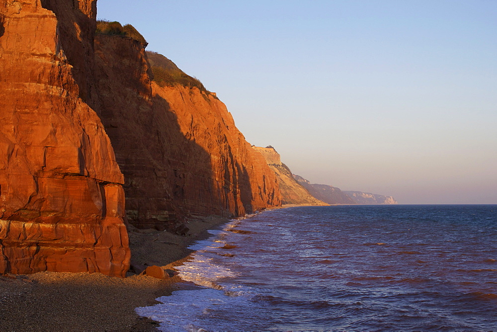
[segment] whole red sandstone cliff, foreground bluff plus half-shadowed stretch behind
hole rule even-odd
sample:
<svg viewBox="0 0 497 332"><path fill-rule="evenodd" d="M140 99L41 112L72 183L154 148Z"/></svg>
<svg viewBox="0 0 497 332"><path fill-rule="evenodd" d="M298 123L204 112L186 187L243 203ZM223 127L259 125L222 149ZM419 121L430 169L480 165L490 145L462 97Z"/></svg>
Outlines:
<svg viewBox="0 0 497 332"><path fill-rule="evenodd" d="M281 205L215 94L152 82L140 41L94 40L95 4L0 0L0 273L124 276L125 219L177 231Z"/></svg>

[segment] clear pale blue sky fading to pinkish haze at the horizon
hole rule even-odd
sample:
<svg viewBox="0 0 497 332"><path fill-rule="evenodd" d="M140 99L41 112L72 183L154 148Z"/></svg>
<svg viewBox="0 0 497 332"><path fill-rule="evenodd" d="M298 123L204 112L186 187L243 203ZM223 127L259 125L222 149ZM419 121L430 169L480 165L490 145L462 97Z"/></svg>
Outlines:
<svg viewBox="0 0 497 332"><path fill-rule="evenodd" d="M98 0L294 173L497 203L496 0Z"/></svg>

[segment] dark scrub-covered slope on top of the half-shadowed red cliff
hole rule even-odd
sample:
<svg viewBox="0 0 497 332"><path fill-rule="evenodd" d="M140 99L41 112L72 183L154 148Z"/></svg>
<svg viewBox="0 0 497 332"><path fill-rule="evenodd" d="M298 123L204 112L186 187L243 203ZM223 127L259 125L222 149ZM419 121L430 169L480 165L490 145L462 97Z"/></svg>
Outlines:
<svg viewBox="0 0 497 332"><path fill-rule="evenodd" d="M186 75L179 69L171 60L157 52L147 51L152 72L154 73L154 81L161 86L174 86L176 84L197 87L200 91L209 93L204 84L198 79Z"/></svg>

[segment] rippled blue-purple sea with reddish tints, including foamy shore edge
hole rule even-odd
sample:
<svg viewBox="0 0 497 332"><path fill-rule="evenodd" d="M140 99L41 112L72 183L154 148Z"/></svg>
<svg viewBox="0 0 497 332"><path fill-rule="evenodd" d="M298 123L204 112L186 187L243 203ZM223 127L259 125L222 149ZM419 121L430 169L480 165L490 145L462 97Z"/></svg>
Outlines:
<svg viewBox="0 0 497 332"><path fill-rule="evenodd" d="M137 308L161 331L496 330L497 205L338 205L233 220L197 287Z"/></svg>

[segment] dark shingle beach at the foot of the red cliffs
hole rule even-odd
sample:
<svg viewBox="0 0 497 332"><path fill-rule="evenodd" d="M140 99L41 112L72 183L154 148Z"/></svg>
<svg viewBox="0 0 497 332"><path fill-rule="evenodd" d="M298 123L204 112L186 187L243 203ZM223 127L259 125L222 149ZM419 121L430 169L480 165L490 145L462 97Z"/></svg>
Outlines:
<svg viewBox="0 0 497 332"><path fill-rule="evenodd" d="M130 226L132 262L173 269L192 253L187 246L227 222L189 221L186 237ZM159 324L138 316L135 308L192 287L177 276L159 280L130 272L126 278L54 272L0 276L0 331L157 331Z"/></svg>

